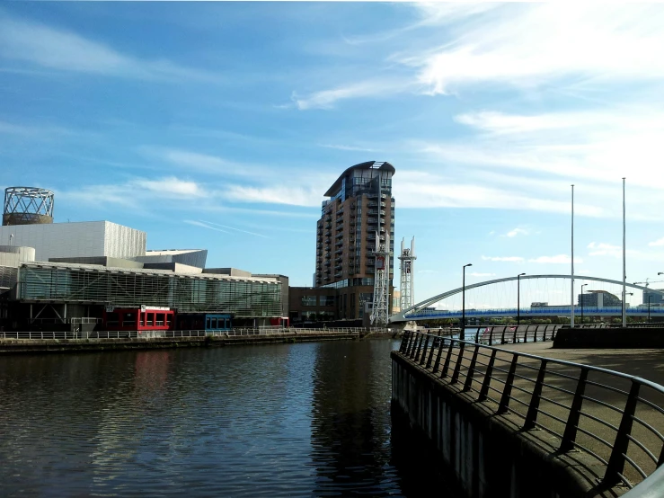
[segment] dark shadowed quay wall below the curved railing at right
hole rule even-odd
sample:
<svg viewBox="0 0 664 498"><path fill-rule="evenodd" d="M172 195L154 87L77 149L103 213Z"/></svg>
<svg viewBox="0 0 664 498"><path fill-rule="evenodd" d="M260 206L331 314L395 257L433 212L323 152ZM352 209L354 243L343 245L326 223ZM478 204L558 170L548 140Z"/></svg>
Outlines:
<svg viewBox="0 0 664 498"><path fill-rule="evenodd" d="M589 458L552 451L544 431L523 431L399 351L392 352L393 409L410 422L470 498L602 495Z"/></svg>

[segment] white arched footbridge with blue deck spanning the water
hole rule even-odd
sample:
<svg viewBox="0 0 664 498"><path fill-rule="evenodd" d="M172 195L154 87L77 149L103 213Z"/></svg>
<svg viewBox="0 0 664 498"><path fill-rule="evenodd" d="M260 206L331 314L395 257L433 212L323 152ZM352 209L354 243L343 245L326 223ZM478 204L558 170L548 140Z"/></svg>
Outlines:
<svg viewBox="0 0 664 498"><path fill-rule="evenodd" d="M590 283L588 284L582 284L580 285L580 282L582 281L588 281L588 282L598 282L601 283L604 286L617 286L620 289L620 292L622 292L622 286L623 282L618 281L618 280L610 280L610 279L603 279L599 277L589 277L585 275L574 275L573 277L574 282L575 282L575 290L579 289L582 291L583 287L586 285L591 285ZM504 301L507 299L508 301L513 302L512 306L486 306L486 304L483 304L483 306L475 306L473 299L471 298L469 300L469 295L472 296L472 293L474 289L488 289L491 286L493 287L499 287L500 284L504 284L505 282L514 282L516 280L520 280L518 284L520 284L521 288L524 287L524 285L529 281L529 280L539 280L539 281L546 281L546 280L554 280L557 282L563 282L564 286L566 286L566 297L563 297L565 294L564 291L561 291L560 289L557 290L552 290L552 292L557 292L555 297L553 299L558 300L559 302L562 301L563 303L569 303L570 298L571 298L571 289L570 289L570 284L572 280L571 275L522 275L518 277L506 277L503 279L495 279L495 280L486 280L483 282L477 282L477 283L471 283L465 286L465 296L466 296L466 304L465 304L465 316L466 317L486 317L486 318L491 318L491 317L500 317L500 316L521 316L524 318L531 318L531 317L537 317L537 316L569 316L571 315L571 305L570 304L561 304L559 306L548 306L548 303L537 303L537 306L535 306L535 303L533 303L533 306L515 306L517 305L518 298L516 297L519 290L514 291L513 289L509 289L508 292L506 292L504 289L499 290L500 293L500 298ZM660 297L661 300L664 300L664 291L662 290L657 290L657 289L650 289L648 287L642 287L641 285L637 285L634 283L625 283L625 287L627 287L629 290L640 290L640 291L646 291L648 293L651 293L651 295L657 295ZM425 299L421 301L420 303L414 305L413 307L409 307L407 309L403 309L400 313L397 313L393 316L390 316L390 323L400 323L400 322L409 322L409 321L417 321L417 320L431 320L431 319L437 319L437 318L461 318L463 312L461 309L452 309L450 307L446 307L446 300L449 302L453 298L458 298L461 293L463 292L464 288L459 287L457 289L452 289L448 290L447 292L443 292L441 294L438 294L437 296L434 296L432 298ZM595 290L595 292L598 292ZM514 294L512 296L512 293ZM530 296L532 298L533 295L538 295L542 294L542 290L535 290L533 291L532 289L529 290L529 293L526 293L526 296ZM495 294L495 292L494 292ZM505 297L505 294L509 294L509 296ZM545 293L544 293L545 294ZM627 292L628 295L633 295L633 292ZM523 295L523 294L522 294ZM575 292L574 296L576 299L577 293ZM618 292L616 292L616 295L619 295ZM475 298L475 300L477 300ZM496 299L491 299L489 298L488 300L491 300L493 302L496 302ZM522 302L520 303L523 305L523 301L526 299L523 299ZM500 299L498 299L500 302ZM436 307L434 305L438 304L443 304L443 307ZM654 304L654 302L653 302ZM622 314L622 305L620 303L617 304L617 306L584 306L583 310L585 311L586 316L620 316ZM574 305L574 311L576 315L579 315L581 312L581 307L580 305L575 304ZM648 306L646 305L640 305L637 307L627 307L626 308L626 314L627 316L664 316L664 306Z"/></svg>

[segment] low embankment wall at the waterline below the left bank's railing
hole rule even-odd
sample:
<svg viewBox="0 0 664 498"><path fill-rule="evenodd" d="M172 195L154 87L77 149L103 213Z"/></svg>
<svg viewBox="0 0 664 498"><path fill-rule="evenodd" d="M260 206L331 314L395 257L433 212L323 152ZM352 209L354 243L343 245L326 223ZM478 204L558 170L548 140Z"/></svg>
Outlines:
<svg viewBox="0 0 664 498"><path fill-rule="evenodd" d="M358 339L359 333L279 333L199 337L151 337L146 339L3 339L0 354L82 351L151 350L164 348L224 347L239 344L341 341Z"/></svg>

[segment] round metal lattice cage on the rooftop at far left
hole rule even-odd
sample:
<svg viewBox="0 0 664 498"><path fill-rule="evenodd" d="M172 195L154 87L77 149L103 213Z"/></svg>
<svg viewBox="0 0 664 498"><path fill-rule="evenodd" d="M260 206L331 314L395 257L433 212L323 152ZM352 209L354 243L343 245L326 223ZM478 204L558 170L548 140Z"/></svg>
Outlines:
<svg viewBox="0 0 664 498"><path fill-rule="evenodd" d="M37 225L53 223L52 191L37 187L4 189L3 225Z"/></svg>

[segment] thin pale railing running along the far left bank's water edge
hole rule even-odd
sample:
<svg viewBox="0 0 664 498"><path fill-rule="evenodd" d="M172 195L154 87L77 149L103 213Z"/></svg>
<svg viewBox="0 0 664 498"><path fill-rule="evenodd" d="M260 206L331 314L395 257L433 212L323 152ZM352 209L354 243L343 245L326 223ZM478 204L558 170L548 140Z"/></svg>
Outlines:
<svg viewBox="0 0 664 498"><path fill-rule="evenodd" d="M106 330L92 332L0 332L0 339L148 339L156 337L204 337L235 336L235 335L284 335L298 333L347 333L359 334L368 332L387 332L384 328L339 327L339 328L283 328L266 326L256 328L234 328L232 330Z"/></svg>

